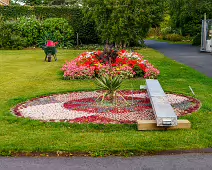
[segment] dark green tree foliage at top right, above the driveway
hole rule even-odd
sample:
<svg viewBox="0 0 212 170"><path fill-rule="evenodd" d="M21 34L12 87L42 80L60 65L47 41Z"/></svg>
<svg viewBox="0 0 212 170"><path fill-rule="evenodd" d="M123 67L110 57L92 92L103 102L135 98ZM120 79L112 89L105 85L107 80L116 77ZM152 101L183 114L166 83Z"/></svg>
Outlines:
<svg viewBox="0 0 212 170"><path fill-rule="evenodd" d="M169 0L169 7L172 29L183 36L201 32L204 13L212 18L211 0Z"/></svg>

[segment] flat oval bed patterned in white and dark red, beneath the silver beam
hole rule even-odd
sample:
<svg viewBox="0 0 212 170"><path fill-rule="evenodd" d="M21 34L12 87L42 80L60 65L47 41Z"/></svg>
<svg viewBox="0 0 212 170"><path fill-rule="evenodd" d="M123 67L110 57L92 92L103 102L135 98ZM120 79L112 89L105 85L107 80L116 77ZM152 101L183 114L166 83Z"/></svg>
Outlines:
<svg viewBox="0 0 212 170"><path fill-rule="evenodd" d="M137 120L153 120L152 106L146 92L120 91L121 96L116 106L97 100L102 91L72 92L36 98L17 105L12 112L19 117L34 120L120 124L136 123ZM200 102L191 97L167 94L168 101L178 117L191 114L200 108Z"/></svg>

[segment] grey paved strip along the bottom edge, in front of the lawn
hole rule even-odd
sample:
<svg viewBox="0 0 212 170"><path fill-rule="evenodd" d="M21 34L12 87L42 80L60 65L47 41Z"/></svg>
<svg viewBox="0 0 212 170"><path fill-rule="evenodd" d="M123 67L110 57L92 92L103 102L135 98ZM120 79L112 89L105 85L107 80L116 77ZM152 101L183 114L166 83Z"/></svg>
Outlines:
<svg viewBox="0 0 212 170"><path fill-rule="evenodd" d="M211 170L212 154L145 157L4 158L0 170Z"/></svg>

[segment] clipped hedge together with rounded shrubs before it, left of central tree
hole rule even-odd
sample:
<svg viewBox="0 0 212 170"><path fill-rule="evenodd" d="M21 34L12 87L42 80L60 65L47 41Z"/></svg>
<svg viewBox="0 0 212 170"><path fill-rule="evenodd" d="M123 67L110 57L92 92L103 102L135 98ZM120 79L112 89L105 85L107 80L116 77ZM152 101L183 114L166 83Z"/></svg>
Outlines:
<svg viewBox="0 0 212 170"><path fill-rule="evenodd" d="M0 14L1 49L40 47L47 39L70 48L77 44L77 34L79 45L99 42L94 21L79 8L0 6Z"/></svg>

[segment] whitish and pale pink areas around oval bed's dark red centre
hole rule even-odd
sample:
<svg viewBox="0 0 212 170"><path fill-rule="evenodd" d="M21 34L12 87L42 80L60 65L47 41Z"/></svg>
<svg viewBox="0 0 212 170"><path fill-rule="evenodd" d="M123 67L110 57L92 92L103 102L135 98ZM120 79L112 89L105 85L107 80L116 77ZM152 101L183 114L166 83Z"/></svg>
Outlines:
<svg viewBox="0 0 212 170"><path fill-rule="evenodd" d="M79 100L85 98L96 98L99 96L99 92L73 92L69 94L59 94L47 97L41 97L28 101L22 105L17 106L16 110L21 114L22 117L28 117L35 120L44 121L61 121L61 120L73 120L76 118L87 117L92 115L103 116L113 120L129 120L136 121L138 119L154 119L152 109L139 108L141 110L132 111L128 113L92 113L87 111L77 111L71 110L64 107L64 103ZM121 93L122 94L122 93ZM129 91L124 96L131 97L131 92ZM133 97L136 98L146 98L146 93L133 92ZM189 103L189 98L175 95L167 94L167 99L170 104L176 105L175 111L179 116L183 112L184 107L189 107L185 102ZM88 103L89 106L89 103ZM77 108L76 108L77 109Z"/></svg>

